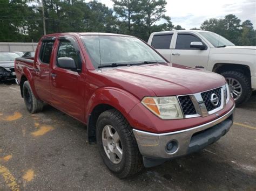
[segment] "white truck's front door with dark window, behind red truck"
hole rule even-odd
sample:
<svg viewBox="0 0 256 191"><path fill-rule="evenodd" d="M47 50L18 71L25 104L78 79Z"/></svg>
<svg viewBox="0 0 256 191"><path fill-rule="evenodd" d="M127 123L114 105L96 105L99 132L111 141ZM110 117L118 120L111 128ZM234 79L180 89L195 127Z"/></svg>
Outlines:
<svg viewBox="0 0 256 191"><path fill-rule="evenodd" d="M201 50L190 47L192 42L201 42L206 48ZM174 49L171 53L171 63L177 63L192 68L207 69L210 46L201 40L196 34L178 32L174 40Z"/></svg>

